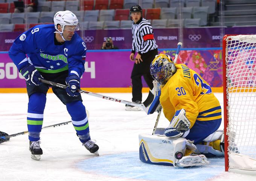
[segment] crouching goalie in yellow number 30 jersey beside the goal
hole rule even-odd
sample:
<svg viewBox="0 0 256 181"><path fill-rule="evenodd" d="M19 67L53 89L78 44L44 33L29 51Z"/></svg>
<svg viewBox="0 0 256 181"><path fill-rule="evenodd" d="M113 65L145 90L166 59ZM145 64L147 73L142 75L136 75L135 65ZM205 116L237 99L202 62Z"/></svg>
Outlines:
<svg viewBox="0 0 256 181"><path fill-rule="evenodd" d="M169 55L155 56L150 66L160 84L160 104L170 121L167 137L183 137L194 142L196 150L207 156L224 156L221 106L209 84L194 70L172 61ZM223 144L223 145L222 145ZM186 155L191 151L186 150Z"/></svg>

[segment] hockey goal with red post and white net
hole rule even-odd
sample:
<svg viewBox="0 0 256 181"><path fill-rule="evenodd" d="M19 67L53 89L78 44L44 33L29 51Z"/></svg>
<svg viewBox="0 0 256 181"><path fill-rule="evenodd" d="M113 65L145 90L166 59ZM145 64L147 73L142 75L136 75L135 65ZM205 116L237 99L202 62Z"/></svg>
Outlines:
<svg viewBox="0 0 256 181"><path fill-rule="evenodd" d="M225 170L256 174L256 35L223 37Z"/></svg>

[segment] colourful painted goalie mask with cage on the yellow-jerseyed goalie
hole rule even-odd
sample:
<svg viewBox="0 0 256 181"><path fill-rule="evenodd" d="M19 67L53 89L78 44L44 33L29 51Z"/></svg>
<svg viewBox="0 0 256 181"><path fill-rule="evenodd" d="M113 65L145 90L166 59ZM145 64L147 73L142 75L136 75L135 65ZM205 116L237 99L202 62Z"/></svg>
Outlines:
<svg viewBox="0 0 256 181"><path fill-rule="evenodd" d="M160 84L164 84L164 80L168 80L176 72L176 68L172 58L166 54L159 54L150 65L150 74Z"/></svg>

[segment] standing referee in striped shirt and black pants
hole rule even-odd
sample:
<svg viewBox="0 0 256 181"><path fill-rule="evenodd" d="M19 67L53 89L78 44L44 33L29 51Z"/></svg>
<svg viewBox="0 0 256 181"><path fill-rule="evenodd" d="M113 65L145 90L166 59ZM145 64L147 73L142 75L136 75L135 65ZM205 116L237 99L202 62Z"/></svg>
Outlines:
<svg viewBox="0 0 256 181"><path fill-rule="evenodd" d="M153 29L151 24L142 17L142 9L139 5L133 6L130 9L131 18L133 20L132 33L133 45L130 54L130 60L134 61L133 71L131 72L131 83L133 85L132 101L141 103L142 101L142 75L148 84L149 88L153 89L154 80L149 72L150 63L158 54L157 44L154 39ZM135 51L137 55L134 58ZM139 107L125 105L125 110L140 110Z"/></svg>

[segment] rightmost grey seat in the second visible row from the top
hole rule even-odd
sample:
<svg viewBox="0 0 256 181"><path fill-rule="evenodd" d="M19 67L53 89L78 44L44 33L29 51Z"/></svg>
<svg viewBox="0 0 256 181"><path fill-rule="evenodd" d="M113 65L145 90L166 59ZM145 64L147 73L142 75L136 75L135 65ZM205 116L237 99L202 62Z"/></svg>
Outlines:
<svg viewBox="0 0 256 181"><path fill-rule="evenodd" d="M208 14L209 14L208 6L193 8L193 17L200 18L200 26L206 26L208 24Z"/></svg>

